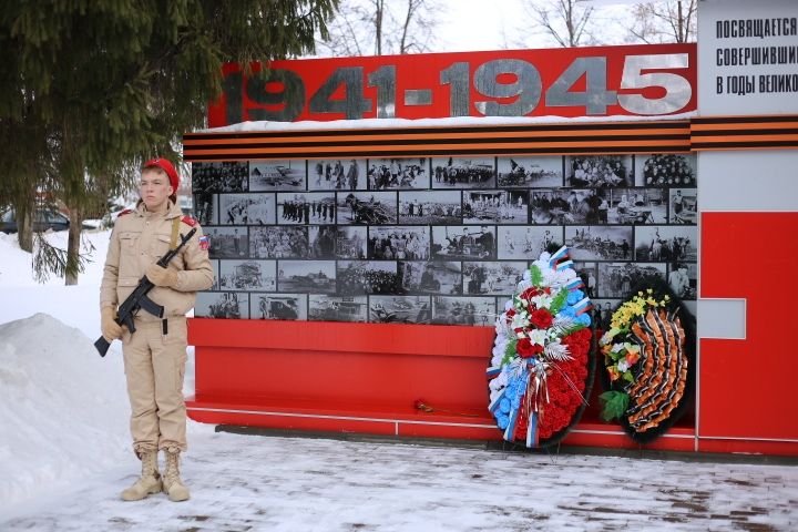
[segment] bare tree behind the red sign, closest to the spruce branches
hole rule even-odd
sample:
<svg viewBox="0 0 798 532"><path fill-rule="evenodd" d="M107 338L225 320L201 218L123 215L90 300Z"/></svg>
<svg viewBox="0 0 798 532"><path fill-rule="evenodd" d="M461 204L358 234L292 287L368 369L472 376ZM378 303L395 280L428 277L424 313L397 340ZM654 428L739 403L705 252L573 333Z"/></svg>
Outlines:
<svg viewBox="0 0 798 532"><path fill-rule="evenodd" d="M428 52L441 10L436 0L342 0L316 48L336 57Z"/></svg>

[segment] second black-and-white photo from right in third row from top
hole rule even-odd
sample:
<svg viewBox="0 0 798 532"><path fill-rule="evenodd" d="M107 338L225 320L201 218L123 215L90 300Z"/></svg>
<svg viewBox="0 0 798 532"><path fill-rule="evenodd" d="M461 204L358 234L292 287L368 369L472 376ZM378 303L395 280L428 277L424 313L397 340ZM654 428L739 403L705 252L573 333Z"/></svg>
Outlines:
<svg viewBox="0 0 798 532"><path fill-rule="evenodd" d="M632 227L565 227L565 245L574 260L631 260L633 242Z"/></svg>

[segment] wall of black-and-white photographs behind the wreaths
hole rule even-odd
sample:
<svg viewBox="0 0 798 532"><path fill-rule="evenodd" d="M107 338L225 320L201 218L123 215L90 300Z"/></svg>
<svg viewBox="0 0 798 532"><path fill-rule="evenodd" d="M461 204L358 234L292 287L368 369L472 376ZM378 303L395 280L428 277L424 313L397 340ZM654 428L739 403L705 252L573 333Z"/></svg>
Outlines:
<svg viewBox="0 0 798 532"><path fill-rule="evenodd" d="M566 245L596 324L647 277L695 311L693 154L194 163L195 316L493 326Z"/></svg>

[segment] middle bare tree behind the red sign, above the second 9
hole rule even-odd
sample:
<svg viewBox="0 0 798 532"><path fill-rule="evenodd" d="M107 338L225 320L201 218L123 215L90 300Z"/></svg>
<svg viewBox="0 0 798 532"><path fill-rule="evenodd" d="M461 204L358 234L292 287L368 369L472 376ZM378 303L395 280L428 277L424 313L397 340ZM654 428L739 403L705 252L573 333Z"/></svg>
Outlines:
<svg viewBox="0 0 798 532"><path fill-rule="evenodd" d="M595 8L581 0L524 0L523 7L533 33L543 33L563 48L596 43L591 28ZM529 30L526 25L522 32Z"/></svg>

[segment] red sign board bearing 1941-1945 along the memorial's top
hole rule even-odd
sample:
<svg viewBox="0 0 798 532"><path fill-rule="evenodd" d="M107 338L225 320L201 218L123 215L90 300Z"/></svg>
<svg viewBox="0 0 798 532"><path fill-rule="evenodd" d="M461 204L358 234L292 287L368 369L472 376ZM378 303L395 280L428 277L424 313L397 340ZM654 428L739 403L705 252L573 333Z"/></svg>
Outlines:
<svg viewBox="0 0 798 532"><path fill-rule="evenodd" d="M696 110L696 47L274 61L224 69L208 126L246 121L669 115Z"/></svg>

